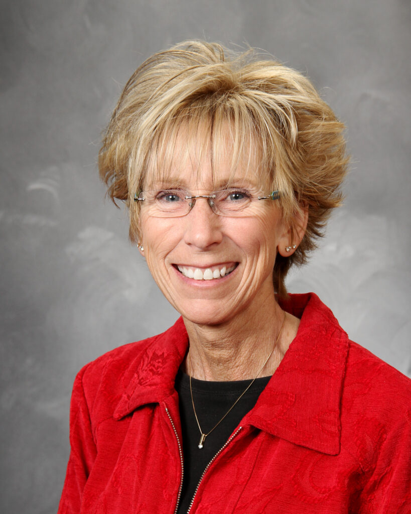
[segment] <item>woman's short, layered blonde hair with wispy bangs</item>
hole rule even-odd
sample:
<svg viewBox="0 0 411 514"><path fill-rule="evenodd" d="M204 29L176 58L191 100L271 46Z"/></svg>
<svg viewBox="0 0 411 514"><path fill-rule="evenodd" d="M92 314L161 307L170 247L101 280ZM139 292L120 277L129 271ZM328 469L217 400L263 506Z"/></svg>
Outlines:
<svg viewBox="0 0 411 514"><path fill-rule="evenodd" d="M287 297L291 265L306 262L324 233L331 209L341 204L348 158L344 125L298 71L264 59L253 49L232 52L220 44L186 41L148 58L124 87L103 137L101 178L108 195L125 200L130 240L139 237L139 202L150 173L171 166L182 127L215 169L227 155L278 189L291 233L308 209L302 242L288 258L277 254L274 289ZM256 163L255 156L258 155ZM201 160L201 157L199 157ZM247 170L246 170L247 171ZM290 241L290 244L292 241Z"/></svg>

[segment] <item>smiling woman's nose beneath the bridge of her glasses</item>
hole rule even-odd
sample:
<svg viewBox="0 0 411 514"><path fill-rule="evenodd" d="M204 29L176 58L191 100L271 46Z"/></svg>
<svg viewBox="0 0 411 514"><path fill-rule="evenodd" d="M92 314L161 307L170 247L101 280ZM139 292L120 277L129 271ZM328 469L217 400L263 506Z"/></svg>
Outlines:
<svg viewBox="0 0 411 514"><path fill-rule="evenodd" d="M221 243L221 216L215 214L207 197L197 197L190 212L184 216L184 242L200 249Z"/></svg>

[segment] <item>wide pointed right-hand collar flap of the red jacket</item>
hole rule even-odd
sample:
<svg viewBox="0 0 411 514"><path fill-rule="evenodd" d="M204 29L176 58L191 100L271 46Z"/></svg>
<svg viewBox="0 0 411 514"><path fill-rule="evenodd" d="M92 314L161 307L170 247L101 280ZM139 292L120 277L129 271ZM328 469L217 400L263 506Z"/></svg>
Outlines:
<svg viewBox="0 0 411 514"><path fill-rule="evenodd" d="M301 319L297 336L244 421L300 446L337 455L348 336L314 293L281 307Z"/></svg>

